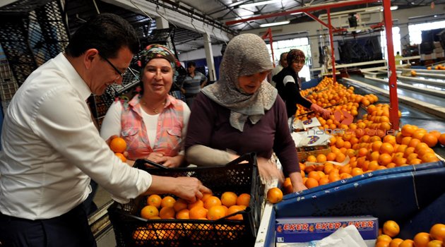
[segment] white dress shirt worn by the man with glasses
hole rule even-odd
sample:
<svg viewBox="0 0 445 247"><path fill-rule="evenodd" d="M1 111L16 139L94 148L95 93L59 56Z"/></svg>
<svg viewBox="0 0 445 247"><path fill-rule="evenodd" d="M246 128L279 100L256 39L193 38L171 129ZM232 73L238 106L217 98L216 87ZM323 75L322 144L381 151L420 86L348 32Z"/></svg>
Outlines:
<svg viewBox="0 0 445 247"><path fill-rule="evenodd" d="M146 171L114 155L91 120L85 84L64 54L37 68L14 95L4 118L0 211L48 219L81 204L90 177L124 202L151 184Z"/></svg>

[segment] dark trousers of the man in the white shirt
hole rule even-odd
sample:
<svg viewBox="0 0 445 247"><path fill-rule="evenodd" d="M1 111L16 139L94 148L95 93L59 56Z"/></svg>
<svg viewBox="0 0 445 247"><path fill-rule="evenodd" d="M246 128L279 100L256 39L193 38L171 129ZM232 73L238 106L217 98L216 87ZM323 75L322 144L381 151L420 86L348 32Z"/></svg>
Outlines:
<svg viewBox="0 0 445 247"><path fill-rule="evenodd" d="M96 247L83 204L52 219L21 219L0 213L0 246Z"/></svg>

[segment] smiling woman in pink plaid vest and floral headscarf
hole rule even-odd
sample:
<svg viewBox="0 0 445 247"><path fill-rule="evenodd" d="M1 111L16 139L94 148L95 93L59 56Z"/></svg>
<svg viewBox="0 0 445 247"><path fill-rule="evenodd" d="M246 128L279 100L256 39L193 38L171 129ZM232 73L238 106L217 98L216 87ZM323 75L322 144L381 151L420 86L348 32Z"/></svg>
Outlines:
<svg viewBox="0 0 445 247"><path fill-rule="evenodd" d="M109 107L100 135L105 140L112 135L124 138L129 164L150 159L165 167L179 167L184 163L182 140L190 109L168 93L176 59L160 44L148 46L140 58L141 92L129 102L117 101Z"/></svg>

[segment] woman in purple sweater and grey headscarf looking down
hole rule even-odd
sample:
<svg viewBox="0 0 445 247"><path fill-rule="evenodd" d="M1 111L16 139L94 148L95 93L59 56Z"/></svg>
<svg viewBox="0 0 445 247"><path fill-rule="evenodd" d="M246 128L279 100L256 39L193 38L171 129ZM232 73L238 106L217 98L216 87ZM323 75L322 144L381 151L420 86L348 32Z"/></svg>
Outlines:
<svg viewBox="0 0 445 247"><path fill-rule="evenodd" d="M266 44L258 35L238 35L229 42L220 80L203 88L194 100L186 159L198 166L211 166L256 152L261 176L282 179L283 174L271 164L275 152L294 191L302 191L306 187L287 127L285 104L265 80L272 68Z"/></svg>

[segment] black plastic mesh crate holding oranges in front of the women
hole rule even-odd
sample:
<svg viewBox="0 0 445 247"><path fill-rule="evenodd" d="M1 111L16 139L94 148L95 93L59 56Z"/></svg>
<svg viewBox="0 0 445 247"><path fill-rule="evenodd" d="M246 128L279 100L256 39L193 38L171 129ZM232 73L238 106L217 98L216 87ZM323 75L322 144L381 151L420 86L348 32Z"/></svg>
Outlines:
<svg viewBox="0 0 445 247"><path fill-rule="evenodd" d="M225 191L251 195L249 207L239 212L242 220L143 219L146 196L108 209L117 246L252 246L261 220L264 188L259 179L256 155L247 154L225 166L140 168L158 176L193 176L220 197ZM163 196L163 195L161 195ZM235 214L237 215L237 214Z"/></svg>

